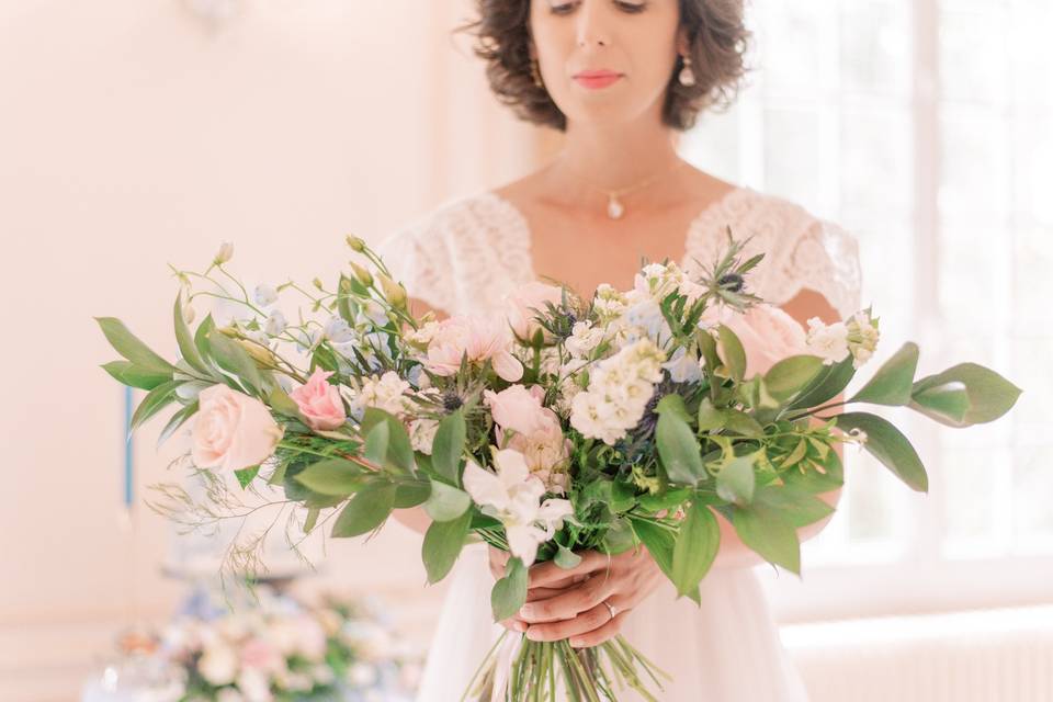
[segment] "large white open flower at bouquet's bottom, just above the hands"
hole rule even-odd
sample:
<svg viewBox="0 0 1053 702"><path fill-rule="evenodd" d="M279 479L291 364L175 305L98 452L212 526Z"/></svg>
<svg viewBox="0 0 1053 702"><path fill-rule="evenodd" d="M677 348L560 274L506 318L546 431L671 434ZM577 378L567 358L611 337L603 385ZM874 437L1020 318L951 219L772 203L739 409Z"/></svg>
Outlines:
<svg viewBox="0 0 1053 702"><path fill-rule="evenodd" d="M530 566L537 557L537 546L552 539L563 526L563 519L574 513L574 507L564 499L541 502L545 485L531 475L520 452L494 451L494 465L497 474L468 461L464 489L485 514L505 525L509 551Z"/></svg>

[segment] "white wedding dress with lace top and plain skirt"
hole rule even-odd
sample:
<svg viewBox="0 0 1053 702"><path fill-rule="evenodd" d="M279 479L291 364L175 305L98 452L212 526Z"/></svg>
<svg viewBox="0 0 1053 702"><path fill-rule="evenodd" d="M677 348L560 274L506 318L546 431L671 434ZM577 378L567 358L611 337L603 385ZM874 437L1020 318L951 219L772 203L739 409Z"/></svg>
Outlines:
<svg viewBox="0 0 1053 702"><path fill-rule="evenodd" d="M847 317L859 307L856 239L803 207L749 188L729 191L687 231L686 271L710 264L726 245L754 235L744 258L766 252L748 284L781 304L802 287L822 293ZM409 294L448 314L491 313L516 285L535 279L530 230L509 201L486 191L446 203L378 247ZM768 566L765 566L768 567ZM494 579L484 544L464 548L428 652L418 702L456 702L503 631L490 616ZM807 693L782 646L751 568L713 569L701 585L701 608L677 599L668 580L625 619L622 633L672 676L664 702L805 702ZM620 702L639 698L625 691Z"/></svg>

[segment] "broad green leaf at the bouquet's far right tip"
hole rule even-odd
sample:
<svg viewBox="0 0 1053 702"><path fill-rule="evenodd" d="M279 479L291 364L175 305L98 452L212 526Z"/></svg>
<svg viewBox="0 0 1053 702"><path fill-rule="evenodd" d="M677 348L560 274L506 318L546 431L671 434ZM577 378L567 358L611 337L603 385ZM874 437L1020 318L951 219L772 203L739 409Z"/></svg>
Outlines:
<svg viewBox="0 0 1053 702"><path fill-rule="evenodd" d="M955 421L940 412L931 411L928 406L918 401L917 397L909 407L948 427L971 427L998 419L1012 408L1020 393L1023 392L990 369L976 363L959 363L942 373L920 378L914 384L912 394L917 396L932 392L949 383L961 383L965 386L965 394L969 396L969 410L961 420Z"/></svg>

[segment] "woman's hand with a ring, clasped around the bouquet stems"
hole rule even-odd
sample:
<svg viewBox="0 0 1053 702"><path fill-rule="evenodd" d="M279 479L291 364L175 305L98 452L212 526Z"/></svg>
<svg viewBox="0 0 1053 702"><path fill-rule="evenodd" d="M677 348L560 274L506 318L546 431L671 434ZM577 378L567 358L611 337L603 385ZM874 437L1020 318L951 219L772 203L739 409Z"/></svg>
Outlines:
<svg viewBox="0 0 1053 702"><path fill-rule="evenodd" d="M564 569L548 562L530 569L529 592L545 591L546 596L528 596L528 603L510 621L525 622L531 641L569 638L576 648L598 646L618 635L625 615L664 577L643 546L615 556L598 551L581 551L578 555L581 563L574 568ZM568 577L570 585L566 584ZM574 584L574 578L584 579ZM553 589L558 592L553 593Z"/></svg>

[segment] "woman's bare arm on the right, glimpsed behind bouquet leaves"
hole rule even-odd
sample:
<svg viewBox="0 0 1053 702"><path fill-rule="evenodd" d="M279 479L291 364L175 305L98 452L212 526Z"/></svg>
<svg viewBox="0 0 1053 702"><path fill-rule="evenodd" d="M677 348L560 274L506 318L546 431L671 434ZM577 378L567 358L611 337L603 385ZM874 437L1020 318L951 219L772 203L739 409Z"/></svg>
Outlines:
<svg viewBox="0 0 1053 702"><path fill-rule="evenodd" d="M807 328L807 320L811 317L818 317L825 324L834 324L840 320L840 316L834 309L834 307L827 302L826 297L819 293L804 288L793 299L785 303L781 306L783 312L801 322L801 326ZM841 403L845 399L845 394L840 394L830 403ZM839 414L841 408L837 408L826 412L827 415ZM814 417L812 418L812 423L817 426L822 422ZM834 451L837 452L837 457L843 460L845 450L843 444L837 442L834 444ZM841 499L841 488L836 490L830 490L829 492L820 492L816 495L820 500L826 502L833 508L837 508L837 503ZM757 555L752 550L749 548L746 544L743 543L743 540L738 537L738 534L735 532L735 528L720 513L716 513L717 523L721 526L721 550L716 554L716 558L713 562L714 568L749 568L752 566L767 563L761 556ZM797 539L801 543L814 537L820 531L823 531L826 525L834 518L834 514L815 522L814 524L808 524L807 526L802 526L797 530Z"/></svg>

